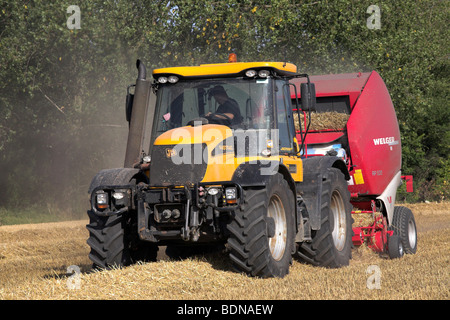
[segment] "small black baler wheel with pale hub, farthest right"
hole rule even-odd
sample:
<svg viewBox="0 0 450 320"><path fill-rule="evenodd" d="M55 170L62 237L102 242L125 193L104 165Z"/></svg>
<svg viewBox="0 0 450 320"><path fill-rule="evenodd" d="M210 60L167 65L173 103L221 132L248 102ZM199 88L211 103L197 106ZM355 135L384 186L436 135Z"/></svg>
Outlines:
<svg viewBox="0 0 450 320"><path fill-rule="evenodd" d="M417 251L417 228L414 215L409 208L394 207L392 223L388 230L394 231L394 235L400 237L403 249L407 254L414 254Z"/></svg>

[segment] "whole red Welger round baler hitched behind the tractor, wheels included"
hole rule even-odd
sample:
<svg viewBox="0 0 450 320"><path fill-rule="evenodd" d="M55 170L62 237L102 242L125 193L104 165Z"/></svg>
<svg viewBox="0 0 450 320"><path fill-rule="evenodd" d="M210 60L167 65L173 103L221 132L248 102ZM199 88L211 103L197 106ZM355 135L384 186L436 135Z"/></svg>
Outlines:
<svg viewBox="0 0 450 320"><path fill-rule="evenodd" d="M303 156L326 156L334 150L334 154L344 158L350 174L348 189L354 207L352 213L373 216L367 225L353 227L353 243L367 243L375 251L391 257L414 253L417 247L414 217L409 209L395 207L402 179L406 180L407 191L412 191L412 177L401 174L400 130L383 79L372 71L311 76L310 81L316 90L313 114L348 115L346 123L338 128L314 128L314 117L311 117L312 126L305 137ZM306 80L292 82L298 86ZM294 101L294 91L291 91L291 98ZM303 111L303 114L305 132L308 112ZM297 131L297 140L301 141L300 131Z"/></svg>

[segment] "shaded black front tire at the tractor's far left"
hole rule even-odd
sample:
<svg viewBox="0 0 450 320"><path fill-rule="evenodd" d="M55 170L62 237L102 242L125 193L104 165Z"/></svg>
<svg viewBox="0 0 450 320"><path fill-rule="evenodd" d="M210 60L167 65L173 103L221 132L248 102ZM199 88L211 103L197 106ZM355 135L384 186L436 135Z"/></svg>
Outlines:
<svg viewBox="0 0 450 320"><path fill-rule="evenodd" d="M102 217L88 211L89 259L94 268L124 267L138 261L156 261L158 247L140 241L135 215L112 215Z"/></svg>

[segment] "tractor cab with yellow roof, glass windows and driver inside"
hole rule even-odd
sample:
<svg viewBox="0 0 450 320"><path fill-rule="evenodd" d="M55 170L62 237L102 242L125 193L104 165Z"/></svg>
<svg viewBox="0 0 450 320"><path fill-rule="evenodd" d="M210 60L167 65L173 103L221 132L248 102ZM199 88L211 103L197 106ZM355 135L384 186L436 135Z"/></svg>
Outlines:
<svg viewBox="0 0 450 320"><path fill-rule="evenodd" d="M295 65L283 62L154 70L157 98L150 148L172 129L216 124L234 131L267 131L272 153L298 154L289 85L290 79L302 76L296 71ZM275 131L277 136L271 137Z"/></svg>

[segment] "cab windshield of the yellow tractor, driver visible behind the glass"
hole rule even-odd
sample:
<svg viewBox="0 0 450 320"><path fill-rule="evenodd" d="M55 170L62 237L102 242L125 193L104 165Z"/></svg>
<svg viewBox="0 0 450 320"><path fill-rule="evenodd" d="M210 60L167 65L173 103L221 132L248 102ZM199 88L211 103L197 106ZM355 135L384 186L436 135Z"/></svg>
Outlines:
<svg viewBox="0 0 450 320"><path fill-rule="evenodd" d="M199 118L232 129L270 129L271 81L233 78L160 85L152 136L186 126L190 121L201 121Z"/></svg>

